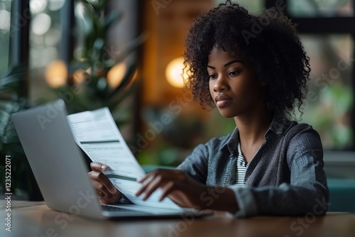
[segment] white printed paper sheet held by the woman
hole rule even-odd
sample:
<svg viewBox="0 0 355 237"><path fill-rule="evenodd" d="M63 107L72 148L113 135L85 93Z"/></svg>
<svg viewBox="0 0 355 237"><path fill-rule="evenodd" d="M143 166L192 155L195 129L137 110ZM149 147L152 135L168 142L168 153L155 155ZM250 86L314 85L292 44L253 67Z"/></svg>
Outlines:
<svg viewBox="0 0 355 237"><path fill-rule="evenodd" d="M109 166L107 172L104 172L105 175L134 204L181 209L168 198L159 202L161 189L146 201L134 195L141 187L136 179L145 175L145 172L129 150L107 107L68 115L67 121L77 145L92 161Z"/></svg>

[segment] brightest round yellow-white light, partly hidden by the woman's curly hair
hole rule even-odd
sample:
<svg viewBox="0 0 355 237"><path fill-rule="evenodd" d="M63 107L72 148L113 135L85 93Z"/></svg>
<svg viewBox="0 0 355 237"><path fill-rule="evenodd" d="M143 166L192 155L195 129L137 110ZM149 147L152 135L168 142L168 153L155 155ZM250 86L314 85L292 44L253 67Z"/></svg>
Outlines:
<svg viewBox="0 0 355 237"><path fill-rule="evenodd" d="M166 67L165 77L173 87L184 87L184 81L187 79L186 70L183 74L183 77L181 75L184 70L184 67L185 66L183 57L175 58L174 60L169 62L168 66Z"/></svg>

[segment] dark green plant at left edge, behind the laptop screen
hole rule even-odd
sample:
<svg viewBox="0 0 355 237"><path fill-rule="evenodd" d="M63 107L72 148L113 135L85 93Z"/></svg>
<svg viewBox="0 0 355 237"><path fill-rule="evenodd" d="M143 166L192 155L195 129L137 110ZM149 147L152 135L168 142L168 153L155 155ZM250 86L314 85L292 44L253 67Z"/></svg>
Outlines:
<svg viewBox="0 0 355 237"><path fill-rule="evenodd" d="M26 77L26 67L16 66L0 77L0 155L1 191L5 186L5 158L11 158L11 192L18 199L43 199L35 182L30 165L23 152L16 130L11 122L11 114L27 109L28 100L22 96L22 82ZM4 193L4 192L2 192Z"/></svg>

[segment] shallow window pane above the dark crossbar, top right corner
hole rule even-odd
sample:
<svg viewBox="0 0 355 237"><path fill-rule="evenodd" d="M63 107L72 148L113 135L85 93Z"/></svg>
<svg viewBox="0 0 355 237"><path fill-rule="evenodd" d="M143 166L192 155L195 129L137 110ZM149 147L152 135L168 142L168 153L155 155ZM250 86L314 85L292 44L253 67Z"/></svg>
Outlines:
<svg viewBox="0 0 355 237"><path fill-rule="evenodd" d="M288 13L293 17L354 16L354 0L292 0Z"/></svg>

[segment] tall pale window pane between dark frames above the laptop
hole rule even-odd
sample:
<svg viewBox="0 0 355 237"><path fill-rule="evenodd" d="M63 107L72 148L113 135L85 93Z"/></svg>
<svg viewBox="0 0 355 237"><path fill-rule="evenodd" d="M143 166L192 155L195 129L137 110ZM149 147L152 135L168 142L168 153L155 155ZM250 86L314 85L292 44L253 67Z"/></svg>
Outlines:
<svg viewBox="0 0 355 237"><path fill-rule="evenodd" d="M60 11L65 0L30 0L29 91L31 100L57 99L45 80L45 69L60 54Z"/></svg>

